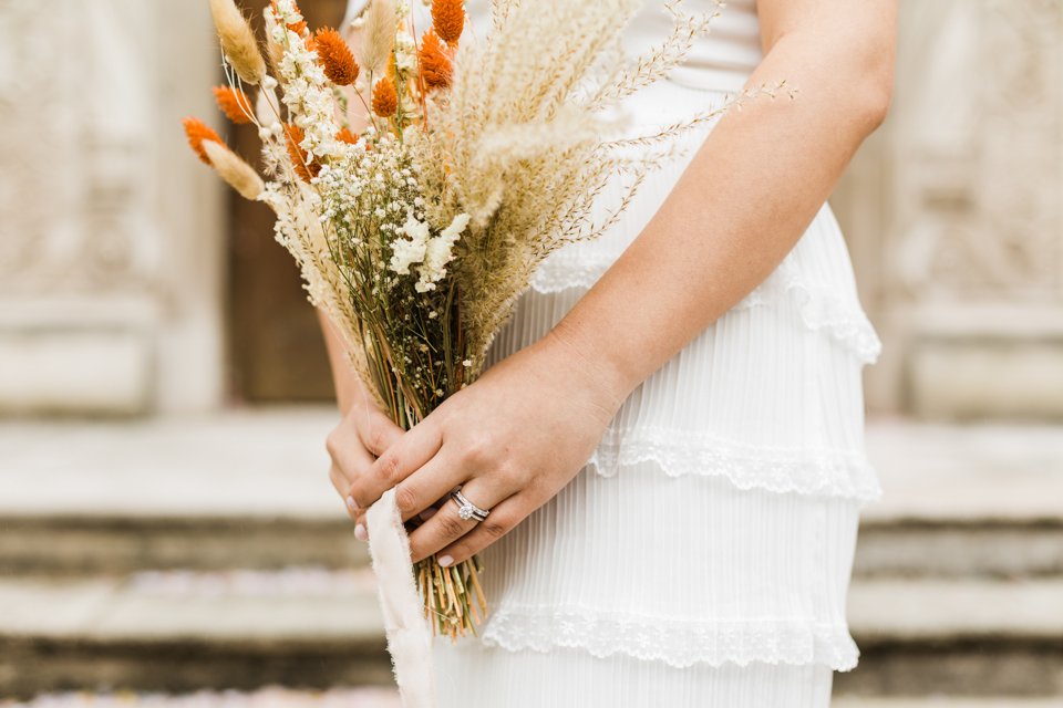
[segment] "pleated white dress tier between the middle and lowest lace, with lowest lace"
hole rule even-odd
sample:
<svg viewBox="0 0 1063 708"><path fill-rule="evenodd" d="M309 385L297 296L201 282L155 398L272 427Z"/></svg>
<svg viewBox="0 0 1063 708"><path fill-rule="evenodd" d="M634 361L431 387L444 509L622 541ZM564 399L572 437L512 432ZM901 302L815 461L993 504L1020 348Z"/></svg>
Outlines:
<svg viewBox="0 0 1063 708"><path fill-rule="evenodd" d="M848 669L857 508L724 479L582 470L483 554L483 642L582 648L675 668L756 662Z"/></svg>

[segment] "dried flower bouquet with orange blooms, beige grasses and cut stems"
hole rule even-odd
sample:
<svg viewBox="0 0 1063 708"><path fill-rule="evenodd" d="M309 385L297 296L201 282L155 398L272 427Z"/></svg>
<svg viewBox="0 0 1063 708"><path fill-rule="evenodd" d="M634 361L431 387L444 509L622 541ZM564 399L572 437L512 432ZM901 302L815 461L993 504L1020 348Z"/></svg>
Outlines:
<svg viewBox="0 0 1063 708"><path fill-rule="evenodd" d="M188 140L275 210L310 301L404 428L475 381L539 263L608 229L671 138L782 86L647 135L608 117L683 60L722 2L700 14L670 4L671 34L623 62L621 32L641 0L494 0L478 41L462 39L462 0L433 0L420 38L406 0L372 0L357 58L336 30L311 32L295 0L266 8L264 56L234 1L209 1L228 77L217 103L257 126L266 177L195 118ZM360 134L351 113L364 114ZM612 179L621 196L596 220ZM433 631L476 632L481 571L477 559L416 564Z"/></svg>

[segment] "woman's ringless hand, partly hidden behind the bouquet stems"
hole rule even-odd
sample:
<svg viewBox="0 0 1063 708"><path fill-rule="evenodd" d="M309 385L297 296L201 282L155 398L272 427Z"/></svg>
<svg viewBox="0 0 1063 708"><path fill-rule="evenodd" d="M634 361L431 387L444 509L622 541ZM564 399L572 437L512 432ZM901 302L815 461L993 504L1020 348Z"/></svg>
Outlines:
<svg viewBox="0 0 1063 708"><path fill-rule="evenodd" d="M340 499L347 501L348 513L358 520L358 510L348 501L348 491L357 479L369 471L376 458L403 436L403 429L376 406L363 386L352 385L349 389L353 393L347 415L329 434L324 446L332 458L329 480ZM354 535L360 541L368 539L364 524L354 527Z"/></svg>

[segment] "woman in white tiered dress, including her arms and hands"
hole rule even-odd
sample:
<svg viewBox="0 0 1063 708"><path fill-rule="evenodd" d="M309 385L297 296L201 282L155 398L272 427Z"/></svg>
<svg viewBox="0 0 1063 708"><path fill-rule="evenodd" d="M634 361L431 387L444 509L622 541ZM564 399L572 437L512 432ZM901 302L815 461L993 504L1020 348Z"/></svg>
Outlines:
<svg viewBox="0 0 1063 708"><path fill-rule="evenodd" d="M475 41L488 0L467 9ZM665 125L780 79L796 100L691 135L610 232L543 264L494 365L413 430L372 407L327 327L355 535L398 486L426 519L413 560L486 565L481 636L437 639L441 706L813 708L856 665L846 592L879 493L861 369L880 343L826 199L886 115L896 12L727 2L629 115ZM670 21L646 0L627 49ZM456 487L483 513L437 503Z"/></svg>

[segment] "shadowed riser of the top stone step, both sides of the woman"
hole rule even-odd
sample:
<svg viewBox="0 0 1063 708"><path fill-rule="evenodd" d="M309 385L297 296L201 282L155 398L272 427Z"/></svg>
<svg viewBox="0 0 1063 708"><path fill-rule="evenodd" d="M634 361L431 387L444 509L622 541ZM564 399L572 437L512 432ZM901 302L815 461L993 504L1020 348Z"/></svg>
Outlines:
<svg viewBox="0 0 1063 708"><path fill-rule="evenodd" d="M0 517L0 575L164 569L360 568L364 543L340 513ZM1063 576L1063 523L1052 519L866 519L854 576Z"/></svg>

